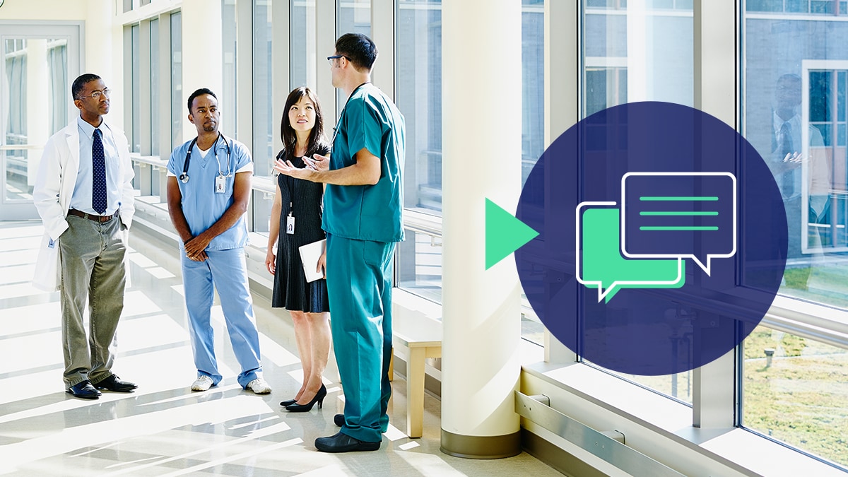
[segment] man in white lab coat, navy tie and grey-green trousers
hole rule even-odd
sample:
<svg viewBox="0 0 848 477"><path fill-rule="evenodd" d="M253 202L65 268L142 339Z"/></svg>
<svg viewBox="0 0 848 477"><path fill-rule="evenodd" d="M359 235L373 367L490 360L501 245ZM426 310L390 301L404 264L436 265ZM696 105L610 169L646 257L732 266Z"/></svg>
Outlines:
<svg viewBox="0 0 848 477"><path fill-rule="evenodd" d="M47 140L32 193L45 229L33 283L61 292L65 389L98 399L98 389L136 388L111 372L124 308L127 230L135 212L133 170L124 133L103 121L109 113L103 79L82 75L71 93L80 115Z"/></svg>

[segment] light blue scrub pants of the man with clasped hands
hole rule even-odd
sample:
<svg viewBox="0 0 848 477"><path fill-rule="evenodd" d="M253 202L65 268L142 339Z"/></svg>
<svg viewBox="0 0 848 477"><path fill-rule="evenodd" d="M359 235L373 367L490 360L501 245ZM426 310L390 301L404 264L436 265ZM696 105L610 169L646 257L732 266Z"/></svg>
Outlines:
<svg viewBox="0 0 848 477"><path fill-rule="evenodd" d="M215 384L220 383L222 378L215 360L215 330L211 323L213 292L218 289L232 351L242 366L238 384L246 388L250 381L261 376L262 365L259 363L259 332L254 322L254 302L248 288L244 249L206 250L209 258L205 261L188 260L185 251L182 247L180 249L188 324L198 376L205 374Z"/></svg>

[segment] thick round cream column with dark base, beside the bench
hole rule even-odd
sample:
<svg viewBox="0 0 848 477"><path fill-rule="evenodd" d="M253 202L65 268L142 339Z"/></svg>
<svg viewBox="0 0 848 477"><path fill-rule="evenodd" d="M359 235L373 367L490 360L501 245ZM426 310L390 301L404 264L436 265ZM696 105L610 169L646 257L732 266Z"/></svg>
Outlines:
<svg viewBox="0 0 848 477"><path fill-rule="evenodd" d="M485 199L521 191L522 14L516 0L442 6L442 451L521 452L519 283L511 257L485 269Z"/></svg>

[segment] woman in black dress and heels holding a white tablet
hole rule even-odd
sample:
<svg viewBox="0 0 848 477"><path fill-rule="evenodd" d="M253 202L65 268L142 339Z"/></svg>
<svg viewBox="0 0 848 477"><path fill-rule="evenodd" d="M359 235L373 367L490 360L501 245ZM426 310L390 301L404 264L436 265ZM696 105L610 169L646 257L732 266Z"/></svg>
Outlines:
<svg viewBox="0 0 848 477"><path fill-rule="evenodd" d="M318 97L308 87L295 88L288 94L283 109L280 132L283 149L277 159L290 160L304 167L304 156L329 154L324 137L324 121ZM326 295L326 279L306 282L298 247L325 239L321 230L323 185L277 176L274 205L271 207L271 230L265 267L274 275L271 306L285 307L292 316L294 336L298 343L304 383L293 399L282 401L288 411L306 412L315 402L322 406L326 387L321 373L330 353L330 305ZM276 244L276 255L274 245ZM319 263L324 263L321 257Z"/></svg>

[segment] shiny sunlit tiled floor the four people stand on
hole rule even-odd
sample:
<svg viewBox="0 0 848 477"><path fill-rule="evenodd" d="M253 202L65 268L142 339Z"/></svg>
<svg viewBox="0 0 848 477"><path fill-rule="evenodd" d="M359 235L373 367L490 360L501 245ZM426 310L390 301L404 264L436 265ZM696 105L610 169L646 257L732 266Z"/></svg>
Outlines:
<svg viewBox="0 0 848 477"><path fill-rule="evenodd" d="M499 460L438 450L441 403L425 397L424 435L404 434L405 383L394 381L392 424L377 452L325 454L316 437L337 432L338 383L326 379L323 409L287 413L299 388L291 321L256 296L270 396L238 386L220 308L216 350L225 379L192 393L195 377L176 259L131 234L131 286L114 372L139 384L98 401L64 392L58 293L30 286L40 222L0 222L0 474L15 475L559 475L522 453ZM332 373L327 373L332 374Z"/></svg>

